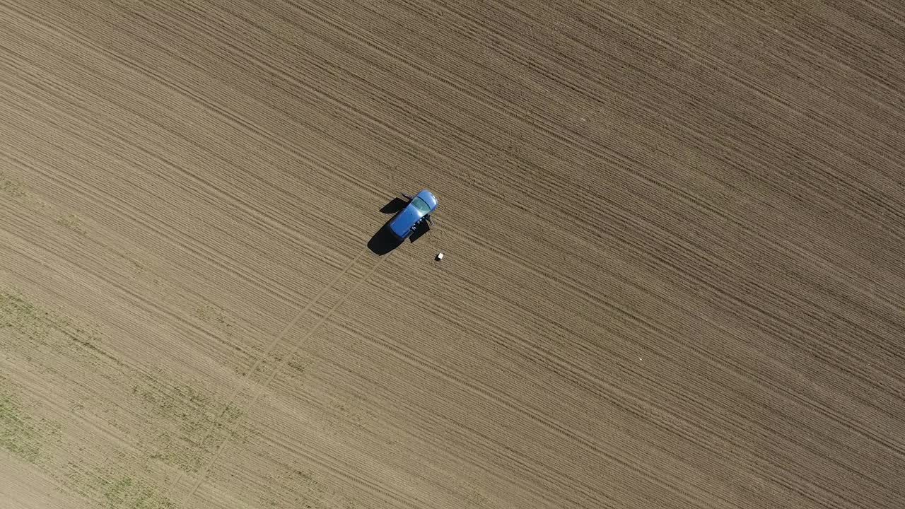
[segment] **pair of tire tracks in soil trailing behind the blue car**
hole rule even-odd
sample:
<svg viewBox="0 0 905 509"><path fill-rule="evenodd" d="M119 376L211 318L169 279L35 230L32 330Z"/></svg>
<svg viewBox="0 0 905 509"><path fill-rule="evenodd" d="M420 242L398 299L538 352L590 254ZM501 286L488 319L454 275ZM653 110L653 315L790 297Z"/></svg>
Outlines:
<svg viewBox="0 0 905 509"><path fill-rule="evenodd" d="M356 255L355 258L353 258L352 262L350 262L347 265L347 267L343 271L343 273L339 274L338 277L334 280L334 282L331 283L330 288L332 287L333 284L335 284L339 280L339 278L342 275L348 274L348 271L351 269L351 267L353 267L355 265L355 262L357 262L357 260L359 258L361 258L362 255L365 255L367 253L367 251L368 251L368 248L364 247L358 253L358 255ZM332 316L333 313L337 311L339 306L342 305L343 303L345 303L346 300L348 299L348 297L350 295L352 295L353 293L355 293L355 291L358 289L358 287L361 286L362 283L365 283L368 280L368 278L370 278L371 275L374 274L376 272L376 270L382 264L384 264L386 262L386 259L388 259L390 257L390 255L392 255L392 254L393 253L390 252L387 255L384 255L384 256L378 258L377 261L367 271L367 273L364 276L362 276L360 279L358 279L357 282L354 285L352 285L352 287L349 288L346 293L343 293L343 295L338 299L338 301L336 303L334 303L332 306L330 306L329 310L327 310L327 312L325 312L324 315L322 317L320 317L318 322L316 322L312 327L310 327L310 329L308 329L308 331L306 331L298 340L293 341L294 346L292 347L292 350L288 354L283 356L283 359L280 361L280 364L278 364L276 366L276 368L274 368L274 370L271 372L271 375L266 380L264 380L264 382L262 384L260 384L258 386L258 390L255 392L254 397L252 398L252 401L248 404L247 407L243 408L243 416L249 415L249 413L251 412L254 405L258 402L259 399L261 399L264 389L267 389L267 387L271 384L271 381L277 376L277 374L280 373L280 371L286 366L286 364L289 363L292 356L295 355L295 353L297 351L299 351L299 349L305 343L305 341L307 341L310 338L311 334L318 331L320 326L323 325L324 322L327 322L327 320L329 320L330 316ZM329 288L325 288L323 293L326 293L328 290L329 290ZM312 300L311 304L313 304L313 303L314 303L314 301ZM307 312L307 310L309 310L309 309L310 309L310 305L306 306L304 311ZM287 325L286 328L281 332L281 336L278 337L275 341L271 342L271 347L272 347L272 345L275 345L277 343L277 341L281 340L282 337L285 337L285 335L291 330L291 327L294 326L296 323L298 323L299 319L301 318L301 316L303 314L304 314L303 312L299 312L299 314L296 316L296 318L293 319L293 321L289 325ZM251 373L251 372L252 372L252 370L249 370L249 373ZM225 408L224 408L224 410L225 410ZM241 421L236 424L237 425L241 424ZM212 429L213 429L213 427L212 427ZM201 486L201 484L205 481L205 477L207 476L207 473L210 471L211 466L214 466L214 463L216 463L216 461L220 458L220 455L223 453L224 448L229 443L229 441L230 441L229 437L224 438L224 441L220 443L220 446L217 447L216 452L214 452L214 456L210 459L210 461L207 462L207 464L204 466L204 468L201 470L201 472L197 475L197 477L195 478L195 483L192 485L191 489L189 489L188 493L182 499L182 504L184 506L186 506L186 503L188 502L188 500L191 499L192 496L195 495L195 492L197 491L198 487ZM176 483L174 483L174 485L176 485ZM171 488L172 487L173 486L171 486Z"/></svg>

